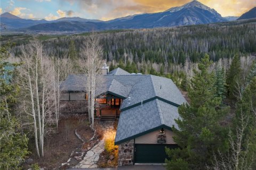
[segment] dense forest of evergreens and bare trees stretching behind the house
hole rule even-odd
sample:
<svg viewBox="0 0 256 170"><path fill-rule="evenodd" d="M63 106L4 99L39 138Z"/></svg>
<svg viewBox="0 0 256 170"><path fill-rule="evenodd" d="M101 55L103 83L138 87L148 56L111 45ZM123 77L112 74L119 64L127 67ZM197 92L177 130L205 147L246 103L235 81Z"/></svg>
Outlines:
<svg viewBox="0 0 256 170"><path fill-rule="evenodd" d="M2 36L1 39L16 43L11 52L13 56L21 54L21 45L39 39L47 55L77 60L81 58L89 35L14 35ZM225 72L236 54L242 57L246 66L256 53L254 20L173 28L111 30L94 32L94 35L99 38L103 60L110 70L121 67L130 73L161 75L172 78L178 86L193 77L196 63L206 53L215 62L214 67L219 65ZM246 59L247 56L251 57Z"/></svg>

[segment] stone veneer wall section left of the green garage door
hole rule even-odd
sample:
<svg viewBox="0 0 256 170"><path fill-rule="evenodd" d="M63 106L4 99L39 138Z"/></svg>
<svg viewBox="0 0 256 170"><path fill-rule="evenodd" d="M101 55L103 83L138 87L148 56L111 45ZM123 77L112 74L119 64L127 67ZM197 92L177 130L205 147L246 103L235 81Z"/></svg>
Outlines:
<svg viewBox="0 0 256 170"><path fill-rule="evenodd" d="M133 165L133 150L133 139L118 146L118 166Z"/></svg>

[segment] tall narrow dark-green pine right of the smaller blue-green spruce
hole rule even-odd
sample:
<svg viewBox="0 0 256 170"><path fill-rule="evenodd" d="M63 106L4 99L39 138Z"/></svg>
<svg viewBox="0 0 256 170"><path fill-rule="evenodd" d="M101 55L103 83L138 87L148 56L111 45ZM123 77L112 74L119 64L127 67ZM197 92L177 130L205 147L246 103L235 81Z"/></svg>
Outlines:
<svg viewBox="0 0 256 170"><path fill-rule="evenodd" d="M235 55L233 61L230 65L230 69L227 72L227 89L228 89L228 96L231 99L236 99L236 95L238 93L237 88L238 84L241 83L239 79L241 76L241 62L238 55Z"/></svg>

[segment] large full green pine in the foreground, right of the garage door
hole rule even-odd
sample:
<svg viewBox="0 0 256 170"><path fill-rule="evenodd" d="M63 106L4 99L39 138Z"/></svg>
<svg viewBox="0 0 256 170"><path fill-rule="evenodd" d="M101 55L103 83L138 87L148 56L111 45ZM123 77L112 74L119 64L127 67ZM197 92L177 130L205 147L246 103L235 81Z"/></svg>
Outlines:
<svg viewBox="0 0 256 170"><path fill-rule="evenodd" d="M210 64L209 55L205 55L198 64L199 71L194 70L188 88L190 105L183 104L178 109L180 119L175 122L179 129L173 127L173 131L174 141L181 149L166 149L171 159L166 161L167 169L205 169L212 164L214 152L228 148L227 131L219 122L229 108L221 106L221 97L216 96L215 75L209 73Z"/></svg>

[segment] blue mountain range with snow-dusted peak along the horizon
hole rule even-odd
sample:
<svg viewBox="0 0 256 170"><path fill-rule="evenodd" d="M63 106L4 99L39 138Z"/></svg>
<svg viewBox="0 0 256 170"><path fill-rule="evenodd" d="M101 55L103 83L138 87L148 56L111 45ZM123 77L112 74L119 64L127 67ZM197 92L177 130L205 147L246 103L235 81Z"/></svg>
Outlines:
<svg viewBox="0 0 256 170"><path fill-rule="evenodd" d="M249 15L252 17L254 14L252 12ZM229 16L223 18L214 9L194 0L183 6L172 7L164 12L130 15L110 21L89 20L79 17L60 18L54 21L27 20L10 13L3 13L0 15L0 19L2 30L83 32L91 31L92 29L138 29L207 24L233 21L237 17Z"/></svg>

